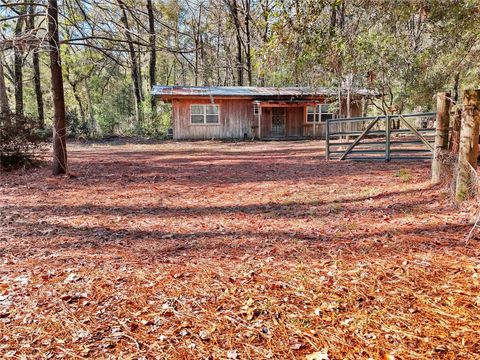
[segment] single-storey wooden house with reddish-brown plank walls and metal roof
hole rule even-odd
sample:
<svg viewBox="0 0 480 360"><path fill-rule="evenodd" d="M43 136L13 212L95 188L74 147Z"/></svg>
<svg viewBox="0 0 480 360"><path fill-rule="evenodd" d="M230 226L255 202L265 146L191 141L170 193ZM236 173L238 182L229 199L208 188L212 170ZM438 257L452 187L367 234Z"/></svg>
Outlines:
<svg viewBox="0 0 480 360"><path fill-rule="evenodd" d="M152 95L172 104L174 139L321 139L326 119L341 116L330 106L337 91L325 88L154 86ZM362 115L362 99L371 96L352 92L350 115ZM346 98L342 103L346 114Z"/></svg>

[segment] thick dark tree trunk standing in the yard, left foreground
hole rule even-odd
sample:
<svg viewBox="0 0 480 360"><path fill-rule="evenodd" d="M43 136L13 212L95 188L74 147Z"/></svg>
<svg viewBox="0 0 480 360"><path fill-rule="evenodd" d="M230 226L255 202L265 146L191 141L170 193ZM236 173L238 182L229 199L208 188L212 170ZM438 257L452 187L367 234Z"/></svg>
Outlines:
<svg viewBox="0 0 480 360"><path fill-rule="evenodd" d="M65 128L65 98L63 93L62 64L58 36L58 4L57 0L48 1L48 35L50 53L50 72L52 77L53 98L53 174L66 174L67 146Z"/></svg>

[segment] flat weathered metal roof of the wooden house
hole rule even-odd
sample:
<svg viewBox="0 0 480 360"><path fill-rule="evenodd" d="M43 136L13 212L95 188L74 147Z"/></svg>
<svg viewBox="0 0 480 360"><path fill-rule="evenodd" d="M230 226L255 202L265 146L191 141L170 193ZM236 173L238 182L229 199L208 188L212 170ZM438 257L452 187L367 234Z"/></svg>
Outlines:
<svg viewBox="0 0 480 360"><path fill-rule="evenodd" d="M378 96L378 92L354 89L353 95ZM336 89L307 87L256 87L256 86L160 86L152 89L154 96L240 96L248 98L336 96Z"/></svg>

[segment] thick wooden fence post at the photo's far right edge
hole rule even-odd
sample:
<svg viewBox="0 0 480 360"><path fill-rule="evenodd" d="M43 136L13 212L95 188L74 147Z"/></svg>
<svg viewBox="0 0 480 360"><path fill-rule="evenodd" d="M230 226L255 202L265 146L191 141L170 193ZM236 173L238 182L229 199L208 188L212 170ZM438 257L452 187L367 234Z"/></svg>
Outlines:
<svg viewBox="0 0 480 360"><path fill-rule="evenodd" d="M478 158L478 135L480 129L480 90L465 90L463 94L460 149L455 199L461 202L471 194ZM472 169L473 168L473 169Z"/></svg>

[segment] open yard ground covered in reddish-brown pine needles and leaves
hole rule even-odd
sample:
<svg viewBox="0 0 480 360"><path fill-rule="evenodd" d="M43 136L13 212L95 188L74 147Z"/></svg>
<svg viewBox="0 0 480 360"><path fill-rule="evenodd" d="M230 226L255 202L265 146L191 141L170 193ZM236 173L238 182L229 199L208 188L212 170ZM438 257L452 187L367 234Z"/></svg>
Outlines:
<svg viewBox="0 0 480 360"><path fill-rule="evenodd" d="M0 175L0 357L480 358L475 212L427 162L167 142L70 165Z"/></svg>

